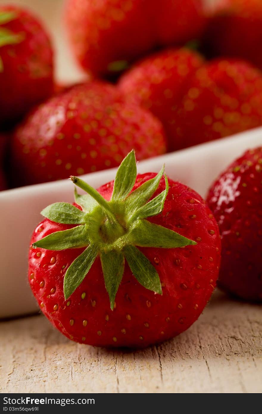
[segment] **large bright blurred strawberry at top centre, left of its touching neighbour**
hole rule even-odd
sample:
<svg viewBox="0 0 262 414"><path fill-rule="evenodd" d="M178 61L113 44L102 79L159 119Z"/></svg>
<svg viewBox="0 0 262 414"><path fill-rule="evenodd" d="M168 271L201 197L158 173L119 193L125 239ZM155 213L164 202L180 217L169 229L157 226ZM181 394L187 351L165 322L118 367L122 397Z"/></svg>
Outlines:
<svg viewBox="0 0 262 414"><path fill-rule="evenodd" d="M65 17L79 63L94 74L119 72L153 48L147 0L69 0Z"/></svg>

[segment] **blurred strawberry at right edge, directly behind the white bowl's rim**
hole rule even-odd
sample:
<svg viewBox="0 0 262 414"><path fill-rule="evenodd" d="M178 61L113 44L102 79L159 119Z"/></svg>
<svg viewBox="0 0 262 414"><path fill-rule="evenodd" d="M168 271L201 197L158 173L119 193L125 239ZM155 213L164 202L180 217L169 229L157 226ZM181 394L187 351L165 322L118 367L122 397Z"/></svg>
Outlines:
<svg viewBox="0 0 262 414"><path fill-rule="evenodd" d="M241 60L206 63L190 78L175 125L177 148L262 125L262 72Z"/></svg>

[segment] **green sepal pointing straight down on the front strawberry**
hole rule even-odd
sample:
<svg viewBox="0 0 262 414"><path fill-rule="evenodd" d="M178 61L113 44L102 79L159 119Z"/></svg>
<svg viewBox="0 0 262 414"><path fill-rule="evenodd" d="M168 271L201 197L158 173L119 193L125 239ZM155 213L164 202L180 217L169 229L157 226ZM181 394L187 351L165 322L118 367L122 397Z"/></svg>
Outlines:
<svg viewBox="0 0 262 414"><path fill-rule="evenodd" d="M114 308L115 295L123 277L125 258L122 252L112 250L100 254L106 290L108 292L111 310Z"/></svg>

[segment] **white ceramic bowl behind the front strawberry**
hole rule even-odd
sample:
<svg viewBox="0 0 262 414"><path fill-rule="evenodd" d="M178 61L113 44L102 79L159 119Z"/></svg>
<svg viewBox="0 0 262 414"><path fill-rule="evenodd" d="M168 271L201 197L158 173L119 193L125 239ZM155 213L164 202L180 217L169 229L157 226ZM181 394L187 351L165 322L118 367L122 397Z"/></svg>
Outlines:
<svg viewBox="0 0 262 414"><path fill-rule="evenodd" d="M246 149L262 145L262 128L197 145L138 164L138 172L166 173L205 197L216 176ZM95 188L112 180L116 169L83 176ZM27 282L27 254L31 233L47 205L73 201L73 184L68 180L31 185L0 192L0 318L36 311L38 308Z"/></svg>

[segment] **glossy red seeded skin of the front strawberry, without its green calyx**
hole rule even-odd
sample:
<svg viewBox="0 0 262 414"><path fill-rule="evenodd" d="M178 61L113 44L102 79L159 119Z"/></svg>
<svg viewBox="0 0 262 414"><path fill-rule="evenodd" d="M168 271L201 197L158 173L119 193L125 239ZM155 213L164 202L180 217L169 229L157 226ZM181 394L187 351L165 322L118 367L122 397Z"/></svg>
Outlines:
<svg viewBox="0 0 262 414"><path fill-rule="evenodd" d="M155 175L138 175L134 189ZM63 277L82 249L54 252L30 248L31 289L43 313L68 338L95 346L146 347L180 334L199 317L219 271L219 230L200 195L183 184L170 179L168 182L163 212L150 221L178 231L198 244L176 249L141 248L159 273L162 296L141 286L126 265L111 311L97 258L88 276L65 301ZM162 178L155 195L164 187ZM113 181L99 188L106 200L110 200L112 190ZM45 219L36 227L31 243L67 228Z"/></svg>

